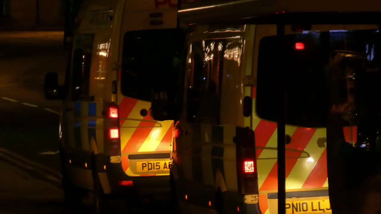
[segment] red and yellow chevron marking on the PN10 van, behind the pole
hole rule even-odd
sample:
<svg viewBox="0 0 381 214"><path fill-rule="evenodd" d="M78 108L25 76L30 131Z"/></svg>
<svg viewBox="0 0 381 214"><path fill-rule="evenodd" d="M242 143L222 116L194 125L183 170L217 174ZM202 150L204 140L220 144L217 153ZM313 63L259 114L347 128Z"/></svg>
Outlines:
<svg viewBox="0 0 381 214"><path fill-rule="evenodd" d="M254 88L253 112L255 93ZM254 115L253 130L258 159L259 206L263 214L269 214L267 193L277 192L278 188L277 151L274 150L277 147L277 124ZM286 145L287 190L328 187L326 132L325 128L286 126L286 134L292 139ZM356 142L357 127L345 127L343 132L347 142Z"/></svg>

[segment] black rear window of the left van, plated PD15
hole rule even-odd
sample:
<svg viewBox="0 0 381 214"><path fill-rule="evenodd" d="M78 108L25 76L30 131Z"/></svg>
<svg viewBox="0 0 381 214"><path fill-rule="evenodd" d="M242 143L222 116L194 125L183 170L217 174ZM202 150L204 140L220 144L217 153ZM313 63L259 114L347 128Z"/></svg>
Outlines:
<svg viewBox="0 0 381 214"><path fill-rule="evenodd" d="M121 91L124 96L150 101L154 87L175 85L181 69L185 32L180 29L140 30L124 35ZM174 78L166 78L169 74Z"/></svg>

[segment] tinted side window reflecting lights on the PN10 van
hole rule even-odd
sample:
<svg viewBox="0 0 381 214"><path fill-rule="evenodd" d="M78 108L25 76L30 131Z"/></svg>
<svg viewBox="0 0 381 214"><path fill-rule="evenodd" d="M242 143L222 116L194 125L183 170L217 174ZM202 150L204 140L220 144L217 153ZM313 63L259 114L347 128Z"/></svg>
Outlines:
<svg viewBox="0 0 381 214"><path fill-rule="evenodd" d="M220 124L224 40L191 45L187 75L187 118L190 123Z"/></svg>

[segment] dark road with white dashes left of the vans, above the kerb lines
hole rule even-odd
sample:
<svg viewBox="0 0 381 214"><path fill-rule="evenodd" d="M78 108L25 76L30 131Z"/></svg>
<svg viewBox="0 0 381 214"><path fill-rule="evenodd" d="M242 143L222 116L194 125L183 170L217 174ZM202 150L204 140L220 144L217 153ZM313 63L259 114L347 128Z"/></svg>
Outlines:
<svg viewBox="0 0 381 214"><path fill-rule="evenodd" d="M46 101L45 73L63 83L67 51L63 32L0 32L0 148L59 171L61 101Z"/></svg>

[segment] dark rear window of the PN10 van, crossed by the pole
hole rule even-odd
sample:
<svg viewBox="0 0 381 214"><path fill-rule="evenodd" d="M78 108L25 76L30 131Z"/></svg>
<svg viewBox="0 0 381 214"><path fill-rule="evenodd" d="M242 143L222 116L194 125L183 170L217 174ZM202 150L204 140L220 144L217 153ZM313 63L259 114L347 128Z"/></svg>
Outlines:
<svg viewBox="0 0 381 214"><path fill-rule="evenodd" d="M265 120L277 120L277 72L286 72L286 123L302 127L326 127L327 78L330 54L334 50L365 54L379 64L376 46L378 30L332 30L286 36L286 64L278 71L274 44L277 37L264 37L259 44L256 112ZM270 84L274 83L274 84ZM275 112L275 113L274 113Z"/></svg>

